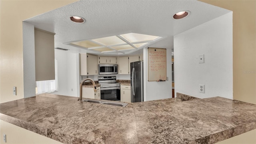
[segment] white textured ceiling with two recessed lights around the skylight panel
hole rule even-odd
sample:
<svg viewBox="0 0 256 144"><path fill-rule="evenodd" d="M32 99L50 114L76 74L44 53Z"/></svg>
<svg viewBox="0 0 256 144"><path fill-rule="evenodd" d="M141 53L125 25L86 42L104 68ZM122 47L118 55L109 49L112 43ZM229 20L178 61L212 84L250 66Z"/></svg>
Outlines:
<svg viewBox="0 0 256 144"><path fill-rule="evenodd" d="M184 10L191 12L188 17L172 18ZM170 38L228 12L197 0L81 0L25 21L55 33L55 47L98 54L67 43L130 32ZM86 22L74 23L70 16L81 16ZM166 48L171 48L168 44Z"/></svg>

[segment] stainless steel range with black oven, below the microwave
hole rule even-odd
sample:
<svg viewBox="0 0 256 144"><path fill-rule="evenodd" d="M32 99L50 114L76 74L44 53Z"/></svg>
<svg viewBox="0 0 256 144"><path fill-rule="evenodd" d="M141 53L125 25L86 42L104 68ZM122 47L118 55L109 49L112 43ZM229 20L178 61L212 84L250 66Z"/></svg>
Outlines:
<svg viewBox="0 0 256 144"><path fill-rule="evenodd" d="M120 101L120 83L116 82L116 76L99 76L98 82L102 100Z"/></svg>

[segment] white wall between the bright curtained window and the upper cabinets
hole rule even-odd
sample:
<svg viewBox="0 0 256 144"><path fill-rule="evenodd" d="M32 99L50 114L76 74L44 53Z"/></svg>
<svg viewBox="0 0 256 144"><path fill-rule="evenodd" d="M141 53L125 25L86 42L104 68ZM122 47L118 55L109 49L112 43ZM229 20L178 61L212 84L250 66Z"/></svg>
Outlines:
<svg viewBox="0 0 256 144"><path fill-rule="evenodd" d="M58 92L65 96L79 96L79 56L64 50L55 50L58 62Z"/></svg>

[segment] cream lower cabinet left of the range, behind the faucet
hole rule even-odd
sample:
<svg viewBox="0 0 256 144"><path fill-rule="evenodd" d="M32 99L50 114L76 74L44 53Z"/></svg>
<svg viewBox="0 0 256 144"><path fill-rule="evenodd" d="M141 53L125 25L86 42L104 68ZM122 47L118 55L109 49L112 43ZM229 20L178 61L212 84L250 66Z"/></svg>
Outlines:
<svg viewBox="0 0 256 144"><path fill-rule="evenodd" d="M82 88L82 98L100 99L100 87L97 87L97 92L94 92L93 88Z"/></svg>

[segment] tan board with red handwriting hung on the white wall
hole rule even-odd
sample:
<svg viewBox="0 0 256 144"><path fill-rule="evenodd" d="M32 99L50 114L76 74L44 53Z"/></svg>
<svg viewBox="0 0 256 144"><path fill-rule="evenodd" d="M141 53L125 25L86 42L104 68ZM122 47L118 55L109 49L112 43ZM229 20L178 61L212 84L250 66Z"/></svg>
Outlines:
<svg viewBox="0 0 256 144"><path fill-rule="evenodd" d="M166 48L148 48L148 81L166 80Z"/></svg>

